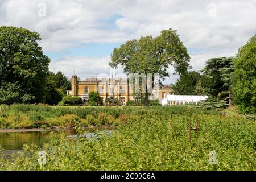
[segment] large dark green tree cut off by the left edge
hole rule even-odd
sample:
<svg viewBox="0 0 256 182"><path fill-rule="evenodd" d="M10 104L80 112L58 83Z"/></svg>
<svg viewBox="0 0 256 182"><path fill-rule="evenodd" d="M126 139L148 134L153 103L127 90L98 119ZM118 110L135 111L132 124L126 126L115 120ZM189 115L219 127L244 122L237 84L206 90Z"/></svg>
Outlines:
<svg viewBox="0 0 256 182"><path fill-rule="evenodd" d="M40 36L24 28L0 27L0 89L10 98L0 102L44 102L50 59L38 45ZM10 85L7 86L7 85ZM9 96L6 96L9 97Z"/></svg>

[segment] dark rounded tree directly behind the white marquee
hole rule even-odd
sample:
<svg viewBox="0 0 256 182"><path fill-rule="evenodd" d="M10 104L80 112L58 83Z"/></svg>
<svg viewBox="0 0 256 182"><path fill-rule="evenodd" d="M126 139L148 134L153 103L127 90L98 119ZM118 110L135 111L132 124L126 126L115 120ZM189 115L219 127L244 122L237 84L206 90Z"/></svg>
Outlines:
<svg viewBox="0 0 256 182"><path fill-rule="evenodd" d="M175 84L172 84L175 94L195 95L196 84L200 80L200 73L196 71L188 72L180 76Z"/></svg>

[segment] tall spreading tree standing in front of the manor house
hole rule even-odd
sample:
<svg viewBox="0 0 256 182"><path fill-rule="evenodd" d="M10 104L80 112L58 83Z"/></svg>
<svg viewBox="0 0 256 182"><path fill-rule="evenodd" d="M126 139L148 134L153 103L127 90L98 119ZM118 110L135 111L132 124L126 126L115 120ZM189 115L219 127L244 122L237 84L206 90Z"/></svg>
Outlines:
<svg viewBox="0 0 256 182"><path fill-rule="evenodd" d="M119 48L114 48L110 67L123 67L126 74L159 74L159 81L169 76L167 69L173 65L178 74L187 72L190 56L187 48L179 39L176 30L163 30L160 36L141 37L139 40L129 40ZM154 86L154 83L152 83ZM144 105L148 105L148 90L146 87Z"/></svg>

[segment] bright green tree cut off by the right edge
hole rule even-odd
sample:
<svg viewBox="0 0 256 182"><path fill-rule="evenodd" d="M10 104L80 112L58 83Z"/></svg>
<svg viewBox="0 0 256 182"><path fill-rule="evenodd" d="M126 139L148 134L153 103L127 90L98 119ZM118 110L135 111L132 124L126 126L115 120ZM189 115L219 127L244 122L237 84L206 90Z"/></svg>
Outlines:
<svg viewBox="0 0 256 182"><path fill-rule="evenodd" d="M234 63L234 93L242 113L256 113L256 34L238 50Z"/></svg>

